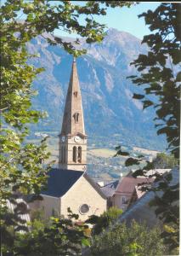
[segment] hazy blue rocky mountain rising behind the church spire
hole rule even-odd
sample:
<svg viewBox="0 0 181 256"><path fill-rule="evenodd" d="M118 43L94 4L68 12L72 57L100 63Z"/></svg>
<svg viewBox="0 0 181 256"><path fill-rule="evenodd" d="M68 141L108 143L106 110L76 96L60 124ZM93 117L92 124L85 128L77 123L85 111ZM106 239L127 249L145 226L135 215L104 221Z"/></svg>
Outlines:
<svg viewBox="0 0 181 256"><path fill-rule="evenodd" d="M65 38L68 40L67 38ZM81 46L88 49L87 55L77 59L77 69L82 90L82 102L86 131L90 138L113 138L123 143L144 148L162 149L163 137L156 136L152 121L154 109L142 110L133 92L141 92L127 76L136 72L130 62L147 48L139 38L127 32L110 29L102 44ZM41 36L28 44L31 53L39 58L31 60L36 67L44 67L34 83L38 95L33 106L48 112L34 131L60 131L60 124L68 87L72 56L59 46L52 46ZM106 139L105 139L106 137ZM115 139L114 139L114 142Z"/></svg>

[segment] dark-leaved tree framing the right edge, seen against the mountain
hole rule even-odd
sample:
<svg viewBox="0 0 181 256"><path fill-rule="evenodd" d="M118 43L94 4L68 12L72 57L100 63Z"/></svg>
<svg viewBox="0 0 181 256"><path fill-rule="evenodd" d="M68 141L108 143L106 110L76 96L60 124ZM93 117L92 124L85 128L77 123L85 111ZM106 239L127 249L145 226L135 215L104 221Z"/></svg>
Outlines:
<svg viewBox="0 0 181 256"><path fill-rule="evenodd" d="M144 95L134 94L133 98L143 102L143 108L156 108L157 134L165 134L168 149L176 159L179 158L180 129L180 77L178 65L181 60L181 9L179 3L161 3L156 10L149 10L139 15L144 17L145 24L150 26L150 35L144 36L142 44L149 46L146 55L139 55L132 65L137 67L138 76L130 77L133 84L142 86ZM118 147L117 154L127 154ZM139 168L144 161L143 155L138 158L129 157L126 166L138 165L135 176L145 175L154 168L154 163L146 161L146 166ZM152 191L162 191L162 196L156 196L153 205L156 214L165 224L162 236L172 249L179 246L179 183L172 185L172 173L156 175L159 185Z"/></svg>

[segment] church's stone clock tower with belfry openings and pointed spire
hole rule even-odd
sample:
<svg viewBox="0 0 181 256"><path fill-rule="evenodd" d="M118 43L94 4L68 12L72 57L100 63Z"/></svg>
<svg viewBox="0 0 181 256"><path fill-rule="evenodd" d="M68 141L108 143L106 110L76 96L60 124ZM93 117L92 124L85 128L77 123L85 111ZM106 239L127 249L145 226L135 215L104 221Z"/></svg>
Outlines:
<svg viewBox="0 0 181 256"><path fill-rule="evenodd" d="M59 169L86 171L87 135L85 134L82 96L76 70L71 69L61 132L59 134Z"/></svg>

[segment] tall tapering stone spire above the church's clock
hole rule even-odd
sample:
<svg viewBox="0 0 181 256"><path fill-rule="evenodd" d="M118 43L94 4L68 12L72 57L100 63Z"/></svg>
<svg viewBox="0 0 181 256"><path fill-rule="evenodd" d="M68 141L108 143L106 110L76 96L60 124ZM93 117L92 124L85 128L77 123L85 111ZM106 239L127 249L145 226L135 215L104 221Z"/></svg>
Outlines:
<svg viewBox="0 0 181 256"><path fill-rule="evenodd" d="M78 116L77 116L78 115ZM78 119L78 122L76 122ZM82 96L76 68L76 58L73 59L71 68L71 79L66 96L64 118L60 135L85 134Z"/></svg>

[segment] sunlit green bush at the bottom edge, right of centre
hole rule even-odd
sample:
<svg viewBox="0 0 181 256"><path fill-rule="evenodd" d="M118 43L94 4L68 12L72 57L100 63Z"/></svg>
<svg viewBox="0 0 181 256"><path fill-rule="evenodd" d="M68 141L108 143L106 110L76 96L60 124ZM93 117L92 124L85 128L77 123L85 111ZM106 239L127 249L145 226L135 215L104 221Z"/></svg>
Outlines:
<svg viewBox="0 0 181 256"><path fill-rule="evenodd" d="M158 227L149 230L145 224L135 221L130 227L116 224L100 236L93 237L92 255L163 255L165 247L160 236L161 230Z"/></svg>

